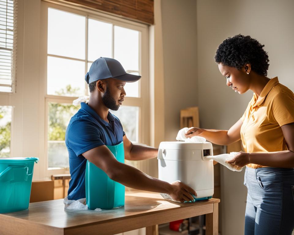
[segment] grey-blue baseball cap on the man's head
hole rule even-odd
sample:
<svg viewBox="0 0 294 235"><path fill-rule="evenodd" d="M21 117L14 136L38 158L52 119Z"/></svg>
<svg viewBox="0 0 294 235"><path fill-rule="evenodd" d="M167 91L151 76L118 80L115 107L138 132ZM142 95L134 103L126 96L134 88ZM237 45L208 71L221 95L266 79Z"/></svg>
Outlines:
<svg viewBox="0 0 294 235"><path fill-rule="evenodd" d="M92 63L89 72L85 76L85 80L89 84L91 82L110 77L123 80L125 82L135 82L141 78L139 75L126 73L121 63L117 60L100 57Z"/></svg>

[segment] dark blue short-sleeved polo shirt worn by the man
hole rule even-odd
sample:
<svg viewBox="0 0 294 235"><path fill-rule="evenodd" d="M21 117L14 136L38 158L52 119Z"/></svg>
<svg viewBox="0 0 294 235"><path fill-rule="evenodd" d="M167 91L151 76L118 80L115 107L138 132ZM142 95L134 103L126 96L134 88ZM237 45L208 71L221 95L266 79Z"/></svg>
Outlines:
<svg viewBox="0 0 294 235"><path fill-rule="evenodd" d="M125 132L119 119L108 112L107 121L86 103L70 119L65 134L65 144L70 163L70 177L68 199L85 198L85 170L86 162L82 153L101 146L117 145L123 141Z"/></svg>

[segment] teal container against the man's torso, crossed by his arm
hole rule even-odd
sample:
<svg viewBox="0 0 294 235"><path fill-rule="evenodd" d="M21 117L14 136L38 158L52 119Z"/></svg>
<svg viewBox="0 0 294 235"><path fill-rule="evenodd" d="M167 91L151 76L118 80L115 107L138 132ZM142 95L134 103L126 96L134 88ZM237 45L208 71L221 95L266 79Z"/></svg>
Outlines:
<svg viewBox="0 0 294 235"><path fill-rule="evenodd" d="M107 146L115 158L125 163L123 142ZM110 210L125 205L125 186L111 180L107 174L87 161L85 173L86 203L89 209Z"/></svg>

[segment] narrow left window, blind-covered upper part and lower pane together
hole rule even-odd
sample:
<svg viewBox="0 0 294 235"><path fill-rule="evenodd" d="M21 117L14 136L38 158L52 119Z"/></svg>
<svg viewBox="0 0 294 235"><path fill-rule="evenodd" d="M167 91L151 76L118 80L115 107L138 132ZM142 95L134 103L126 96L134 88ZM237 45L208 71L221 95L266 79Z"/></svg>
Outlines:
<svg viewBox="0 0 294 235"><path fill-rule="evenodd" d="M16 2L0 0L0 158L11 155L12 106L8 96L15 91ZM2 98L1 97L1 98ZM6 100L6 101L5 101Z"/></svg>

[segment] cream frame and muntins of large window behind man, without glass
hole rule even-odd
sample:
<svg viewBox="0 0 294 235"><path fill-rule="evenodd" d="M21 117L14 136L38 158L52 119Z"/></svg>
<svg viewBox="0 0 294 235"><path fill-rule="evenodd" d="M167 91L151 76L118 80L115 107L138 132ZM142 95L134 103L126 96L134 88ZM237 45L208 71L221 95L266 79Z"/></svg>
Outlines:
<svg viewBox="0 0 294 235"><path fill-rule="evenodd" d="M139 31L139 74L142 78L139 80L139 97L125 97L124 106L138 106L138 142L150 145L150 112L149 112L149 27L147 24L137 23L121 17L116 17L103 12L98 12L91 9L79 8L66 3L52 1L41 2L41 37L40 37L40 124L43 124L44 140L40 141L40 149L44 149L44 176L50 177L52 174L69 173L68 168L52 168L48 169L48 151L47 151L47 123L48 123L48 103L72 103L77 97L66 97L58 95L47 95L47 26L48 26L48 8L55 8L70 13L75 13L86 17L86 54L85 54L85 74L87 72L87 25L88 19L95 19L111 23L113 26L121 26ZM113 27L114 28L114 27ZM113 33L112 33L113 34ZM114 35L112 35L114 37ZM55 56L57 57L57 56ZM60 57L60 56L58 56ZM112 46L113 57L113 46ZM66 57L61 57L66 58ZM71 59L71 58L70 58ZM131 72L131 71L130 71ZM87 85L85 83L85 85ZM88 92L87 86L85 89ZM43 102L42 102L43 100ZM43 112L42 112L43 111ZM42 126L41 126L42 128Z"/></svg>

